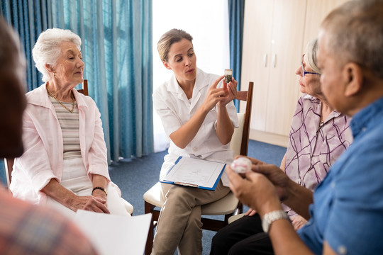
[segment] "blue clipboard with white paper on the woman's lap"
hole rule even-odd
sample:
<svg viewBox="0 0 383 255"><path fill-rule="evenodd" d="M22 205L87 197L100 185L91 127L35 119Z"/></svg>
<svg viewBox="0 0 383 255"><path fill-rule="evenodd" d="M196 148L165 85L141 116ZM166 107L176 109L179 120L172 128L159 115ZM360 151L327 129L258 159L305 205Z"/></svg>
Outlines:
<svg viewBox="0 0 383 255"><path fill-rule="evenodd" d="M178 157L160 182L214 191L225 166L223 162Z"/></svg>

